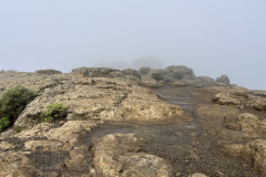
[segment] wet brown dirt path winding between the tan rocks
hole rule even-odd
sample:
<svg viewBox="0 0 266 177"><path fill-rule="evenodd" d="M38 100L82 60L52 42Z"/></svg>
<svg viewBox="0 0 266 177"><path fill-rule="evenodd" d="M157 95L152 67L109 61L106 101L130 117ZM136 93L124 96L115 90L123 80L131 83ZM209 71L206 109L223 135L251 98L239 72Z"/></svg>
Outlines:
<svg viewBox="0 0 266 177"><path fill-rule="evenodd" d="M177 104L193 118L188 122L171 121L164 124L106 122L80 137L80 144L91 145L93 139L108 134L133 133L147 139L142 152L157 155L171 162L173 176L186 177L203 173L217 177L259 176L244 159L232 157L216 145L218 137L207 134L194 111L201 102L193 96L196 88L161 88L154 92L163 100Z"/></svg>

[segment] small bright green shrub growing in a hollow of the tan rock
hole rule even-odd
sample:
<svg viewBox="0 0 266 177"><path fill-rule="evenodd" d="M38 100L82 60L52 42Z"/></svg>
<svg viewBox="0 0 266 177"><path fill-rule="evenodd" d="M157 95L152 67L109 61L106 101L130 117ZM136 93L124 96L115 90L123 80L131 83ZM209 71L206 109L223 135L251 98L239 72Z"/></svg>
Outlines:
<svg viewBox="0 0 266 177"><path fill-rule="evenodd" d="M64 118L68 114L68 106L62 103L53 103L47 106L47 111L41 114L41 122L52 122L58 118Z"/></svg>

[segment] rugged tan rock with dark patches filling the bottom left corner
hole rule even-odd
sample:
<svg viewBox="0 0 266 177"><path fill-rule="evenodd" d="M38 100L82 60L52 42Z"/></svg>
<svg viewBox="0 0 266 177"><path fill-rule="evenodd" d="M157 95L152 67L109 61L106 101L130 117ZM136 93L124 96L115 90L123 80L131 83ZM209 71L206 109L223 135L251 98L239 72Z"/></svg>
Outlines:
<svg viewBox="0 0 266 177"><path fill-rule="evenodd" d="M0 176L95 176L90 163L93 153L76 142L82 132L101 123L69 121L61 127L42 123L1 139Z"/></svg>

